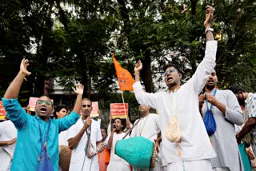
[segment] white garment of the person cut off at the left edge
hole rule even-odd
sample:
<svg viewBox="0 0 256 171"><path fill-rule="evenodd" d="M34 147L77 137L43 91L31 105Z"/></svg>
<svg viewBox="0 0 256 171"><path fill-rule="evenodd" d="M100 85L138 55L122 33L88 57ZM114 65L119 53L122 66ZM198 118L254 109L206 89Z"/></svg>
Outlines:
<svg viewBox="0 0 256 171"><path fill-rule="evenodd" d="M10 141L17 137L17 129L13 122L0 122L0 141ZM10 170L11 160L16 143L0 147L0 171Z"/></svg>

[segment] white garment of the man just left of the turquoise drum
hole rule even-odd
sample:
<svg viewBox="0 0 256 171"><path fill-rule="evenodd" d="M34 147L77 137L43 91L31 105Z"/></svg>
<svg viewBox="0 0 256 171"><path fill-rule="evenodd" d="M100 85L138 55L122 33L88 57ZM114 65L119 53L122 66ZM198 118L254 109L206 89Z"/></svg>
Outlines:
<svg viewBox="0 0 256 171"><path fill-rule="evenodd" d="M111 152L110 152L110 164L107 166L108 171L114 170L122 170L122 171L130 171L130 164L127 161L123 160L121 157L118 157L114 153L115 145L118 140L122 140L122 137L125 137L126 133L114 133L113 134L113 141L111 145ZM128 137L128 136L127 136ZM106 137L105 143L106 144L110 139L110 135Z"/></svg>

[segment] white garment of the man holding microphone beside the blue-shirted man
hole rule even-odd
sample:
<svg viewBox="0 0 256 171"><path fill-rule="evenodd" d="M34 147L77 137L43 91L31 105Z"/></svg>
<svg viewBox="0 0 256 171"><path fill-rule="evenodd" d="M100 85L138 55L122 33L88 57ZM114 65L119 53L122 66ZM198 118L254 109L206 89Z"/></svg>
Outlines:
<svg viewBox="0 0 256 171"><path fill-rule="evenodd" d="M76 124L72 125L69 129L68 139L75 137L79 133L79 131L82 129L83 125L84 123L82 119L79 119L76 122ZM90 126L91 126L90 141L91 141L91 144L94 145L94 147L96 148L96 142L102 140L101 129L100 129L100 126L98 125L98 121L94 121L93 119ZM91 159L86 157L86 153L85 153L86 141L87 141L87 134L85 132L82 135L82 138L78 143L78 146L72 150L71 160L70 160L70 171L99 170L98 156L96 155Z"/></svg>

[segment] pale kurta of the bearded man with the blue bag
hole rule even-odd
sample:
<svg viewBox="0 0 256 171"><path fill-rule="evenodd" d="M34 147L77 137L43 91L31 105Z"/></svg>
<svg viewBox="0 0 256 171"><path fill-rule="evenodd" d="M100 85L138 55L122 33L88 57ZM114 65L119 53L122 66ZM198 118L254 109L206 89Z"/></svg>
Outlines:
<svg viewBox="0 0 256 171"><path fill-rule="evenodd" d="M223 105L226 105L226 113L224 116L215 106L211 109L217 126L215 133L210 136L214 150L217 153L217 157L211 159L211 164L213 168L226 167L232 171L241 171L243 170L242 165L240 165L242 164L242 158L240 157L234 129L234 124L242 125L243 122L241 107L234 93L228 89L218 89L215 97ZM205 101L202 106L203 116L207 110L206 104ZM210 107L210 103L208 105Z"/></svg>

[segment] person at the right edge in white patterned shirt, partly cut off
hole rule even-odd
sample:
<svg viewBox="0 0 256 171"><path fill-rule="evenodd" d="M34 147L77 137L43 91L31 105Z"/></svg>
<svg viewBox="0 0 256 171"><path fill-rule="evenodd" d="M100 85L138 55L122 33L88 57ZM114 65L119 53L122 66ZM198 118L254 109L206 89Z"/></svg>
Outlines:
<svg viewBox="0 0 256 171"><path fill-rule="evenodd" d="M251 146L254 154L256 154L256 93L248 93L240 85L230 86L230 90L238 98L239 105L242 105L245 111L246 122L241 131L236 135L237 141L240 144L242 138L244 138L247 133L251 133Z"/></svg>

